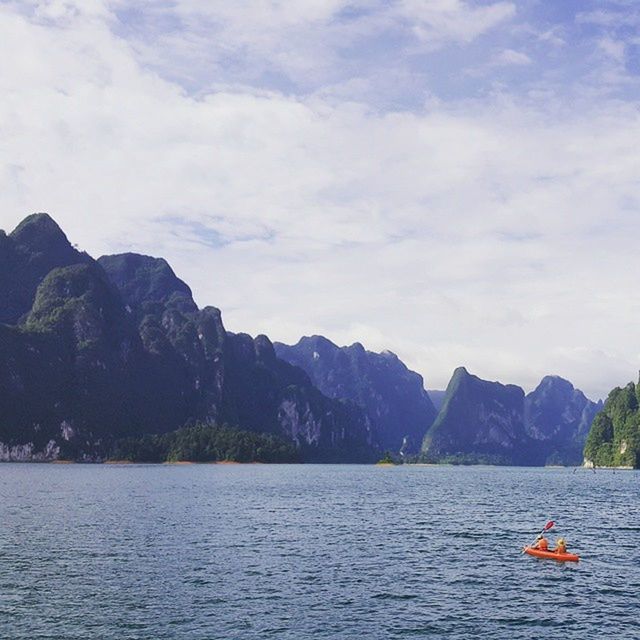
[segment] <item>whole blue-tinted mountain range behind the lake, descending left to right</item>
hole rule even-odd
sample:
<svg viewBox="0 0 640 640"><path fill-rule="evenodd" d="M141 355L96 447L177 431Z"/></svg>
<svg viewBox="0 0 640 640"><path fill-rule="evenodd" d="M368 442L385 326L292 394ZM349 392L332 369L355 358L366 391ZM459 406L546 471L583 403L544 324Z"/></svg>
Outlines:
<svg viewBox="0 0 640 640"><path fill-rule="evenodd" d="M265 433L305 461L576 464L595 405L560 378L458 369L436 411L390 352L225 329L162 258L94 260L47 214L0 233L0 458L102 460L196 421ZM228 432L224 432L225 434Z"/></svg>

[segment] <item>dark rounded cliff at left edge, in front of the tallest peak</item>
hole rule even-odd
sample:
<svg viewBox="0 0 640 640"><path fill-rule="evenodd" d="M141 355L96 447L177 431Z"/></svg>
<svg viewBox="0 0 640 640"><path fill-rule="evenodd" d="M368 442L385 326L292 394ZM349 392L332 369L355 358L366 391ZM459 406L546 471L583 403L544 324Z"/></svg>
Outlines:
<svg viewBox="0 0 640 640"><path fill-rule="evenodd" d="M0 336L0 457L83 458L161 418L162 398L147 408L138 384L149 364L139 336L98 265L53 269Z"/></svg>

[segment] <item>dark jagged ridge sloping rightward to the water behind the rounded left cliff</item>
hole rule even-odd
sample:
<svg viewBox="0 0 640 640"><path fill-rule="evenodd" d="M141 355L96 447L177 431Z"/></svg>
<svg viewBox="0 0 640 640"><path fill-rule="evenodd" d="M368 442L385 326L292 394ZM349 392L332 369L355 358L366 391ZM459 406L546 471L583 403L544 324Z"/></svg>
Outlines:
<svg viewBox="0 0 640 640"><path fill-rule="evenodd" d="M301 369L276 356L267 336L226 331L220 311L199 310L164 260L124 254L99 263L159 367L176 384L187 381L191 417L285 434L309 460L375 457L369 421L357 407L323 395Z"/></svg>

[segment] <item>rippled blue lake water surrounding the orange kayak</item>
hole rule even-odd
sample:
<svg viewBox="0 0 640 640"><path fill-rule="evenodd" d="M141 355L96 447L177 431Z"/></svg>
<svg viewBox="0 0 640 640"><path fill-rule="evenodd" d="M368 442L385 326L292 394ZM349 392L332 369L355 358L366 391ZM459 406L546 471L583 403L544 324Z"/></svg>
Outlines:
<svg viewBox="0 0 640 640"><path fill-rule="evenodd" d="M0 465L0 637L639 638L640 474ZM523 556L549 518L578 565Z"/></svg>

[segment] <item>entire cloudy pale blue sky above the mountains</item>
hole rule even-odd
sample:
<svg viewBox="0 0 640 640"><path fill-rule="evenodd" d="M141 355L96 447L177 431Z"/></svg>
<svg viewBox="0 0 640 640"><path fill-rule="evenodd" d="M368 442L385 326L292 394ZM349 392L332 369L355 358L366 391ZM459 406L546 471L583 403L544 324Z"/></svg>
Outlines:
<svg viewBox="0 0 640 640"><path fill-rule="evenodd" d="M0 228L427 388L637 379L635 0L0 0L0 51Z"/></svg>

